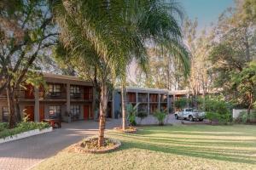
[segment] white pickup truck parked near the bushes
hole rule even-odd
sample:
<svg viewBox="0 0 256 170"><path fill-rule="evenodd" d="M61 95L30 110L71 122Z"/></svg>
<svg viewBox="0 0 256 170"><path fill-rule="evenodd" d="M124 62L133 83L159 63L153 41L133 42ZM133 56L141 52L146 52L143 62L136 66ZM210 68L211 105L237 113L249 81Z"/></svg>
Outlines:
<svg viewBox="0 0 256 170"><path fill-rule="evenodd" d="M183 111L175 112L176 119L189 119L189 121L203 121L205 118L205 112L196 111L195 109L183 109Z"/></svg>

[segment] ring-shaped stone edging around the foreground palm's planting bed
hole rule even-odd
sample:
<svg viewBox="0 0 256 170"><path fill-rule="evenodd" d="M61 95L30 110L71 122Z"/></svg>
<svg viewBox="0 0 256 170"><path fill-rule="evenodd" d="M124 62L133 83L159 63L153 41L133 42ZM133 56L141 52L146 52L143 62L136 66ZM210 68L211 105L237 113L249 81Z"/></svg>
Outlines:
<svg viewBox="0 0 256 170"><path fill-rule="evenodd" d="M90 137L90 138L87 138L87 139L97 139L97 137L94 136L94 137ZM67 148L67 151L68 152L73 152L73 153L79 153L79 154L87 154L87 153L103 154L103 153L108 153L108 152L113 151L113 150L117 150L121 146L121 142L117 139L110 139L110 138L106 138L106 139L111 140L111 142L113 142L115 145L111 148L102 148L101 150L86 150L81 146L82 142L79 142L77 144L73 144L73 145L69 146Z"/></svg>

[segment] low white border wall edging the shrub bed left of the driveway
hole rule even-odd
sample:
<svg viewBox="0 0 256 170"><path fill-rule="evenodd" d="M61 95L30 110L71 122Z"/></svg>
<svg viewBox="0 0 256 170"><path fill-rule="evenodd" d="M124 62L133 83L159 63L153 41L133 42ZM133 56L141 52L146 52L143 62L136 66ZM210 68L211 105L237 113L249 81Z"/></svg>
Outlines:
<svg viewBox="0 0 256 170"><path fill-rule="evenodd" d="M35 135L42 134L42 133L49 133L52 130L53 130L52 127L48 127L48 128L44 128L42 130L34 129L34 130L26 131L24 133L14 134L13 136L8 136L4 139L0 139L0 144L10 142L10 141L14 141L14 140L18 140L18 139L24 139L24 138L35 136Z"/></svg>

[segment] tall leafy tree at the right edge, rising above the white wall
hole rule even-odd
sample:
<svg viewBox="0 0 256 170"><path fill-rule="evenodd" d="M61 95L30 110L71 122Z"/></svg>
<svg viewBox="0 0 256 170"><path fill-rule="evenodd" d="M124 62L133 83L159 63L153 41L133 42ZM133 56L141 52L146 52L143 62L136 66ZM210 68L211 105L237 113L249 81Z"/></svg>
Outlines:
<svg viewBox="0 0 256 170"><path fill-rule="evenodd" d="M244 3L237 3L219 17L215 28L215 44L210 53L214 86L222 88L227 100L236 106L247 107L234 87L235 75L241 75L248 63L255 58L255 28L252 20L244 18Z"/></svg>

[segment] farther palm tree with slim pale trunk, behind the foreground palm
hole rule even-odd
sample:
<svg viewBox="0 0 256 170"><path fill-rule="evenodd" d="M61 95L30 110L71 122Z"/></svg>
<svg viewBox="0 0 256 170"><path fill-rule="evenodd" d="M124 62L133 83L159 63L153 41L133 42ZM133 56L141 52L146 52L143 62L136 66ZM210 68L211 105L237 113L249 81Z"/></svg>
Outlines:
<svg viewBox="0 0 256 170"><path fill-rule="evenodd" d="M126 66L136 59L143 71L147 71L148 54L147 43L154 44L155 48L161 49L163 54L172 54L180 59L183 64L184 75L189 73L189 59L187 50L183 47L181 29L176 17L183 18L183 13L172 0L169 1L137 1L131 8L125 8L125 20L135 29L130 56L125 57ZM177 15L176 15L177 14ZM132 24L131 24L132 23ZM168 55L171 56L171 55ZM126 122L126 67L121 74L121 100L122 100L122 128L125 130Z"/></svg>

